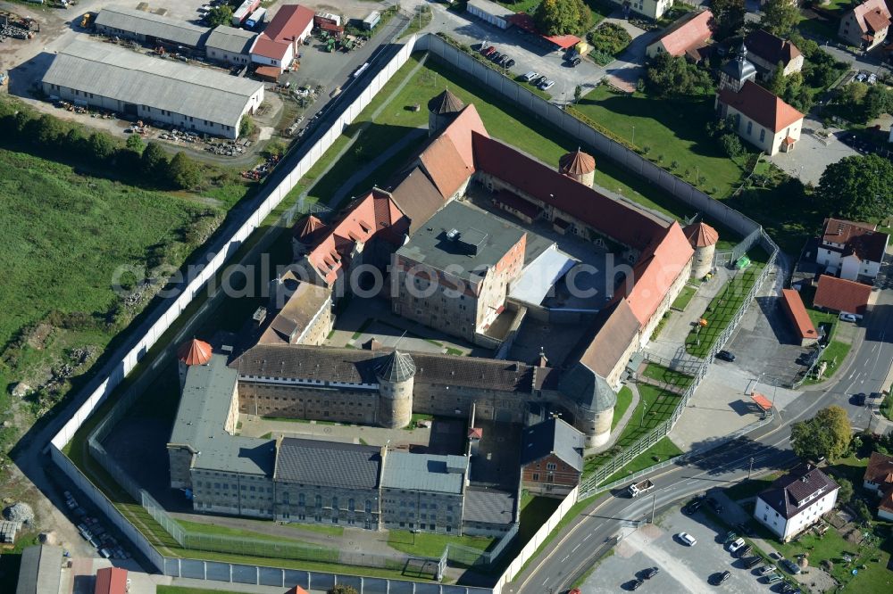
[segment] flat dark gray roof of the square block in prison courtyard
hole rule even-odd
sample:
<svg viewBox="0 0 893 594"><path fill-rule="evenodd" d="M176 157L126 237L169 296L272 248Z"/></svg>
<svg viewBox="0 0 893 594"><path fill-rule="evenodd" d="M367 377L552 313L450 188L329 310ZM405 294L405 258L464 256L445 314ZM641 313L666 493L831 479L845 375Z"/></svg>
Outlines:
<svg viewBox="0 0 893 594"><path fill-rule="evenodd" d="M452 233L454 230L457 233ZM496 265L521 241L524 233L521 227L485 210L450 202L420 227L397 254L437 270L450 267L452 276L477 282L485 269Z"/></svg>

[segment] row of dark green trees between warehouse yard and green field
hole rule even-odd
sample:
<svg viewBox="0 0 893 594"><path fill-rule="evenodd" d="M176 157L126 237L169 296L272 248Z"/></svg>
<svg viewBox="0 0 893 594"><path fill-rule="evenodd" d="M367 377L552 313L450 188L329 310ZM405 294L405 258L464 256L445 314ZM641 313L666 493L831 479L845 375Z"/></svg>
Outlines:
<svg viewBox="0 0 893 594"><path fill-rule="evenodd" d="M59 120L52 115L37 115L33 111L18 110L0 114L0 137L28 144L37 153L49 153L65 161L77 160L85 164L136 175L142 186L193 189L202 183L202 167L186 153L168 158L163 148L154 142L145 144L133 134L126 143L105 132L86 136L75 123Z"/></svg>

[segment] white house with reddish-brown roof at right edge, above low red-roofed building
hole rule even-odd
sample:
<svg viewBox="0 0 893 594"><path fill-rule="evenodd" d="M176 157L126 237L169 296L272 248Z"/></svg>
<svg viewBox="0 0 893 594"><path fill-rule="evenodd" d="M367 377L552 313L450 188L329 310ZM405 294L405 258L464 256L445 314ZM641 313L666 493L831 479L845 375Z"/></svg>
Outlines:
<svg viewBox="0 0 893 594"><path fill-rule="evenodd" d="M889 235L872 223L825 219L815 261L825 273L847 280L874 279L887 252Z"/></svg>

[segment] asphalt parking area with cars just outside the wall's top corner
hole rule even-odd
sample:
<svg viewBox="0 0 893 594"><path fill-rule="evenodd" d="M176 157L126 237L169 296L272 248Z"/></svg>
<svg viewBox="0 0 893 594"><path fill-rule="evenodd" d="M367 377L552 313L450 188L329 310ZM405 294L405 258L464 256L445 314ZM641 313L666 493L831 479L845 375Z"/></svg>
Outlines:
<svg viewBox="0 0 893 594"><path fill-rule="evenodd" d="M531 36L518 32L518 29L498 29L484 21L463 12L456 14L447 11L443 4L430 4L434 11L428 31L443 31L456 41L477 47L485 42L495 45L501 54L509 54L515 61L513 76L535 70L555 80L555 87L549 90L555 101L571 101L573 91L579 85L593 88L605 76L605 69L594 62L581 62L576 68L563 64L563 52L548 52L542 45L531 40Z"/></svg>

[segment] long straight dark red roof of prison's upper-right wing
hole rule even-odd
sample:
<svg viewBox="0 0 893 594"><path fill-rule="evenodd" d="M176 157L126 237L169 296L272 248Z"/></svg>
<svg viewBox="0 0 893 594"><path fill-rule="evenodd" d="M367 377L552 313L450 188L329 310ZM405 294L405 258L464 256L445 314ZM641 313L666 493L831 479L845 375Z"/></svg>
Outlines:
<svg viewBox="0 0 893 594"><path fill-rule="evenodd" d="M583 186L507 144L477 132L472 133L472 142L477 169L580 219L621 243L644 249L667 226L655 215Z"/></svg>

